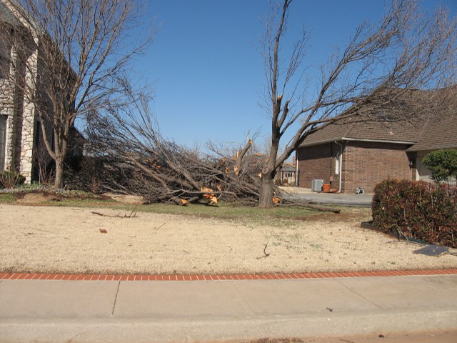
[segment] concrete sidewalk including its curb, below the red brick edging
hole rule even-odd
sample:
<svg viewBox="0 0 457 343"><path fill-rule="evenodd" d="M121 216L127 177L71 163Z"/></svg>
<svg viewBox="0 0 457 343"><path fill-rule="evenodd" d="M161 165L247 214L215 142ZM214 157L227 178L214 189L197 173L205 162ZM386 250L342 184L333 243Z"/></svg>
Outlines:
<svg viewBox="0 0 457 343"><path fill-rule="evenodd" d="M457 329L457 274L0 282L0 342L189 342Z"/></svg>

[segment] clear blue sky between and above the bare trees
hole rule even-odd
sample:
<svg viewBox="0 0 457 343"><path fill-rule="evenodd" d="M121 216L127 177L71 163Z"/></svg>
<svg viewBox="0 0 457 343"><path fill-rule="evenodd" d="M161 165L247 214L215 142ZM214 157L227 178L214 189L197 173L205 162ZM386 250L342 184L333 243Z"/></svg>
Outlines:
<svg viewBox="0 0 457 343"><path fill-rule="evenodd" d="M422 6L438 3L456 15L457 0ZM288 39L296 40L303 25L311 33L305 64L312 74L358 24L378 21L385 6L383 0L295 0ZM258 131L263 144L271 124L258 105L265 84L258 50L268 8L268 0L149 1L146 20L161 26L134 70L155 91L152 107L166 138L188 146L209 139L241 144L248 131Z"/></svg>

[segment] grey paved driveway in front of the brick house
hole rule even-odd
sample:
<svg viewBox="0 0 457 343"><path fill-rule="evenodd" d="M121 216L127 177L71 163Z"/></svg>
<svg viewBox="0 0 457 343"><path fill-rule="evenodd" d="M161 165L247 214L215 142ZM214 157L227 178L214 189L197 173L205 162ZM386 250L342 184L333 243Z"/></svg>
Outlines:
<svg viewBox="0 0 457 343"><path fill-rule="evenodd" d="M373 194L345 194L312 192L309 188L280 187L286 199L310 202L312 204L334 204L371 207Z"/></svg>

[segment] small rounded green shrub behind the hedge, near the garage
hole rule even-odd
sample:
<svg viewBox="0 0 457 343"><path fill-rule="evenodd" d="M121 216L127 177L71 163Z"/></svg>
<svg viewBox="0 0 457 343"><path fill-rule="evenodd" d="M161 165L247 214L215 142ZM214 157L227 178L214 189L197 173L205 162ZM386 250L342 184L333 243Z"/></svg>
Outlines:
<svg viewBox="0 0 457 343"><path fill-rule="evenodd" d="M457 149L433 151L426 154L422 163L430 170L434 182L457 180Z"/></svg>

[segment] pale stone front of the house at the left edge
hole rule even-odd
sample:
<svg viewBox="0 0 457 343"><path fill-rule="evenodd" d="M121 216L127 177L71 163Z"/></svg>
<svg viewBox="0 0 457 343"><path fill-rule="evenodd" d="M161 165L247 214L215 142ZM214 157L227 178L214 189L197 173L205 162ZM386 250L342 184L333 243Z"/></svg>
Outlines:
<svg viewBox="0 0 457 343"><path fill-rule="evenodd" d="M37 87L34 85L37 84L39 51L31 48L26 54L18 54L11 41L37 38L17 34L26 21L10 0L0 0L0 21L0 171L20 172L26 178L26 183L30 183L34 177L36 157L46 154L39 117L34 104L24 96L24 89ZM26 43L20 45L36 45ZM50 128L46 131L52 135ZM46 154L44 159L49 161L49 155Z"/></svg>

